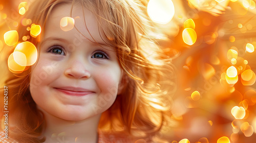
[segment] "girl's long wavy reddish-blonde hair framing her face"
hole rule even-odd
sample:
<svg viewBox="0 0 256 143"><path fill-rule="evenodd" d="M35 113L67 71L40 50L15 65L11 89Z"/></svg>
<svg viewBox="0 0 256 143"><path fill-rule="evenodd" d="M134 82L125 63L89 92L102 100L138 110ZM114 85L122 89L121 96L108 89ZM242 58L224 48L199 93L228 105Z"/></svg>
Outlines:
<svg viewBox="0 0 256 143"><path fill-rule="evenodd" d="M117 58L124 71L124 88L114 104L102 113L99 129L123 131L132 136L147 138L147 141L159 138L156 136L172 126L170 110L176 86L172 58L165 56L157 44L157 39L165 37L148 18L147 1L36 0L23 18L40 25L44 34L51 11L63 3L79 3L95 14L98 27L104 33L101 37L116 47ZM30 35L22 25L17 31L19 41L23 41L23 36ZM28 41L39 45L40 36ZM14 47L6 47L2 51L5 62ZM37 50L40 50L40 46L37 46ZM44 115L36 108L31 97L30 73L30 67L20 74L9 72L4 83L9 88L10 118L13 118L10 122L15 125L10 128L10 135L20 142L42 142L45 140L41 134L45 128Z"/></svg>

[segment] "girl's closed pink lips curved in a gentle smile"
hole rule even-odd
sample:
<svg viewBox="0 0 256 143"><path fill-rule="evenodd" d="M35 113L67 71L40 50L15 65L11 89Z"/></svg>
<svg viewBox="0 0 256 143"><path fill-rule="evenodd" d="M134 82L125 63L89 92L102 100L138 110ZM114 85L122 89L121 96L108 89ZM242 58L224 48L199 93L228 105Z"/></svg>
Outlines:
<svg viewBox="0 0 256 143"><path fill-rule="evenodd" d="M55 88L56 90L65 93L69 96L86 96L88 94L95 93L93 91L90 91L88 89L84 88L76 88L76 87L58 87Z"/></svg>

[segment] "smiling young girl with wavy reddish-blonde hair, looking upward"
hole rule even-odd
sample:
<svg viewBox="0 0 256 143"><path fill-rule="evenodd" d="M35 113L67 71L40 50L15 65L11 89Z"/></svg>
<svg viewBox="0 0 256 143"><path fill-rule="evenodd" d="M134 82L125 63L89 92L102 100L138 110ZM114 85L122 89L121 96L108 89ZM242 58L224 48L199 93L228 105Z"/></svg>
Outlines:
<svg viewBox="0 0 256 143"><path fill-rule="evenodd" d="M38 58L8 75L8 139L1 132L0 141L163 142L172 126L174 75L146 5L35 0L24 18L41 26L27 40ZM63 17L73 18L74 28L63 29ZM22 25L17 31L19 43L30 35ZM8 55L10 47L3 50L6 63L15 46Z"/></svg>

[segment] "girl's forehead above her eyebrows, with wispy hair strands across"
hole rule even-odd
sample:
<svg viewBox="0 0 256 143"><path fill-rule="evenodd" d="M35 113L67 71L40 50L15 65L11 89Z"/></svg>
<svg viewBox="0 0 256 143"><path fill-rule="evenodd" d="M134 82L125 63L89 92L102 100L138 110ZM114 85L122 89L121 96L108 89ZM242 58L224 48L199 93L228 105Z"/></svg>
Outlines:
<svg viewBox="0 0 256 143"><path fill-rule="evenodd" d="M67 18L68 17L68 18ZM65 30L73 25L72 29ZM74 42L88 40L106 43L103 30L99 27L96 16L81 5L59 4L50 13L45 26L44 39L51 37L69 39Z"/></svg>

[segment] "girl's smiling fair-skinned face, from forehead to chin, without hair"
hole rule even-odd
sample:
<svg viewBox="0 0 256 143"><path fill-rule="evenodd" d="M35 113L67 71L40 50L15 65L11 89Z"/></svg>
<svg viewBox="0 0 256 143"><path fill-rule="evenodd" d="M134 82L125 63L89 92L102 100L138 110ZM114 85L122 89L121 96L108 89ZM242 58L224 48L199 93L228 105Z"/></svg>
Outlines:
<svg viewBox="0 0 256 143"><path fill-rule="evenodd" d="M50 14L38 63L32 67L30 91L43 112L81 121L100 115L114 103L122 72L114 47L104 44L106 39L100 36L104 34L89 10L84 8L83 14L81 6L74 6L76 28L61 30L60 19L70 16L70 8L61 4Z"/></svg>

